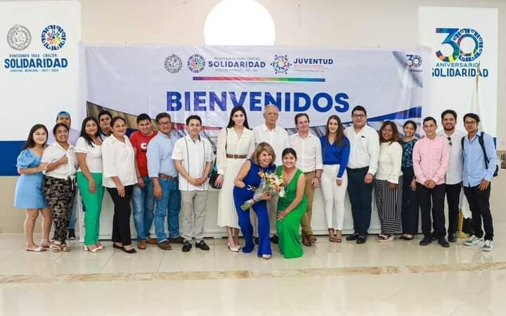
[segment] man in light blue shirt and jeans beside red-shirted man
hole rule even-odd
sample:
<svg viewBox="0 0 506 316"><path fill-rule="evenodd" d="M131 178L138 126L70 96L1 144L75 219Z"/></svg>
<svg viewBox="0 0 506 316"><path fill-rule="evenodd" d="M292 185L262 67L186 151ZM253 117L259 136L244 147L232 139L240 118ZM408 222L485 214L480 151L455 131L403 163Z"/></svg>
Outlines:
<svg viewBox="0 0 506 316"><path fill-rule="evenodd" d="M148 143L148 175L153 180L153 195L156 198L155 232L158 246L171 250L171 243L183 244L179 235L179 211L181 210L181 192L179 192L178 171L171 159L176 136L171 133L170 115L157 114L157 136ZM165 217L169 228L169 238L165 233Z"/></svg>

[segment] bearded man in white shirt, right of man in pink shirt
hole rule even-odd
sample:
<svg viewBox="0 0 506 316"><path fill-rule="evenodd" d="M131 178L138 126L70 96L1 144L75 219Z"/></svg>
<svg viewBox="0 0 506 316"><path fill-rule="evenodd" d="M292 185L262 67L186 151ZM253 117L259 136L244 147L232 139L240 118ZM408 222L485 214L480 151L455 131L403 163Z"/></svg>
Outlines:
<svg viewBox="0 0 506 316"><path fill-rule="evenodd" d="M446 110L441 113L443 131L440 136L448 141L450 146L450 161L445 175L446 202L448 203L448 242L457 242L457 225L460 203L460 189L462 187L462 137L466 134L455 129L457 112Z"/></svg>

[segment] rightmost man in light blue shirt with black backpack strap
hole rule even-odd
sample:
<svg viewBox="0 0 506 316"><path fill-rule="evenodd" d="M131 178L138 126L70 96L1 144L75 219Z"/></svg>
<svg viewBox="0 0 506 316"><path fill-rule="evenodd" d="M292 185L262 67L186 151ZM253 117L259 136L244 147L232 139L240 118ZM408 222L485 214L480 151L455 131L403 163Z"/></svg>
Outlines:
<svg viewBox="0 0 506 316"><path fill-rule="evenodd" d="M490 192L491 180L498 159L492 137L485 133L478 133L479 121L479 116L474 113L464 116L467 136L462 140L462 185L471 209L474 229L474 235L464 244L466 246L483 245L483 251L492 251L493 225ZM479 138L483 138L483 147ZM481 229L482 220L485 236Z"/></svg>

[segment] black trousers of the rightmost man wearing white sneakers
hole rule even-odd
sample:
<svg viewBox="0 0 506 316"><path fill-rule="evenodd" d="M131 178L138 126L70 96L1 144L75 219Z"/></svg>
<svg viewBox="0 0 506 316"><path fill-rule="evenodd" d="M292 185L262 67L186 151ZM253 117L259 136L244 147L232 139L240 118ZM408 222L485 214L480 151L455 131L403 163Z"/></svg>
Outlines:
<svg viewBox="0 0 506 316"><path fill-rule="evenodd" d="M488 189L485 191L480 191L478 185L476 187L464 187L464 194L472 213L474 235L479 238L483 237L484 231L481 228L481 221L483 220L486 240L493 240L492 213L490 211L491 187L491 184L488 185Z"/></svg>

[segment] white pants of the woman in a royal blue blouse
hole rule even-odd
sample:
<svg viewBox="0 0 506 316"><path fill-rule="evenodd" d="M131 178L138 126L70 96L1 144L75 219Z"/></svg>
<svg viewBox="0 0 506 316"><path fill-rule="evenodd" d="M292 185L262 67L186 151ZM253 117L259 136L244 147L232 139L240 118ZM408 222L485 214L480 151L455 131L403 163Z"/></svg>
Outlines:
<svg viewBox="0 0 506 316"><path fill-rule="evenodd" d="M348 186L348 176L345 170L341 185L337 185L337 171L339 171L339 164L324 164L320 186L325 202L327 228L342 230L344 220L344 197L346 196L346 187Z"/></svg>

